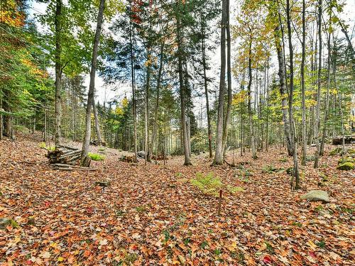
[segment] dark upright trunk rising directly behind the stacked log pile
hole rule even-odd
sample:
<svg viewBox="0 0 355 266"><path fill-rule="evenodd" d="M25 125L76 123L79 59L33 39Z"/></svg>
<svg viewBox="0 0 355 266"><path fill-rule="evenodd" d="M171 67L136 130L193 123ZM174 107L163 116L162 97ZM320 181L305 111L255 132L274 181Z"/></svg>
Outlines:
<svg viewBox="0 0 355 266"><path fill-rule="evenodd" d="M60 131L62 120L62 100L60 91L62 87L62 62L60 59L62 53L61 47L61 16L62 0L56 1L55 6L55 145L60 145Z"/></svg>

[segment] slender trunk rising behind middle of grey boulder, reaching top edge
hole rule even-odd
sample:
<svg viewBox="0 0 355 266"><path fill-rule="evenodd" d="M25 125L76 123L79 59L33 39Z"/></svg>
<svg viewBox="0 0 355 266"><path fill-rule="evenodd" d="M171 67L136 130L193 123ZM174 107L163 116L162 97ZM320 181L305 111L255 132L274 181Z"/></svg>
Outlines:
<svg viewBox="0 0 355 266"><path fill-rule="evenodd" d="M320 85L321 85L321 75L322 75L322 0L318 1L318 38L320 43L319 48L319 58L318 58L318 81L317 81L317 105L315 106L315 165L317 168L320 160Z"/></svg>

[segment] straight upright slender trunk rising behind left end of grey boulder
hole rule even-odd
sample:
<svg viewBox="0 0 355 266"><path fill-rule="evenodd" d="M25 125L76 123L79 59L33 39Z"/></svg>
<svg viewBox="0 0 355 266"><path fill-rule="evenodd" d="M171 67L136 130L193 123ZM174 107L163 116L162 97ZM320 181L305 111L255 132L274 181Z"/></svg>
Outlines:
<svg viewBox="0 0 355 266"><path fill-rule="evenodd" d="M301 60L301 91L302 91L302 165L306 165L307 135L306 135L306 96L305 96L305 46L306 46L306 21L305 0L302 0L302 60Z"/></svg>

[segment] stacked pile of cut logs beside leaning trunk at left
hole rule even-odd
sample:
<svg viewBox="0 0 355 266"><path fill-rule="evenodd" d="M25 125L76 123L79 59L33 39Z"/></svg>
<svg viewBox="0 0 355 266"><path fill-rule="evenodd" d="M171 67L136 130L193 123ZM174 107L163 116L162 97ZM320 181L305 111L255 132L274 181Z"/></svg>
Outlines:
<svg viewBox="0 0 355 266"><path fill-rule="evenodd" d="M77 148L58 145L54 150L48 150L45 157L48 157L51 167L55 170L90 170L87 167L80 167L81 154L82 150Z"/></svg>

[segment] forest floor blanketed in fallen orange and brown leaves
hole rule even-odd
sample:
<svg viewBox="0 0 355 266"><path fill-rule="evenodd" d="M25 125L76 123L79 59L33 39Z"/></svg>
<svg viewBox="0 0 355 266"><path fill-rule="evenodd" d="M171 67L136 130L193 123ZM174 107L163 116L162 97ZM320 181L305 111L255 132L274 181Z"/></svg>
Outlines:
<svg viewBox="0 0 355 266"><path fill-rule="evenodd" d="M60 172L39 143L31 134L0 141L0 218L14 221L0 228L0 265L355 264L355 175L337 170L334 146L319 169L300 166L302 189L290 192L290 176L270 170L292 166L281 147L257 160L236 153L235 168L211 167L207 154L192 167L182 157L134 165L92 147L107 156L92 162L96 171ZM221 216L217 198L188 181L197 172L243 188L224 192ZM111 182L104 191L94 184L103 180ZM311 189L330 202L300 199Z"/></svg>

